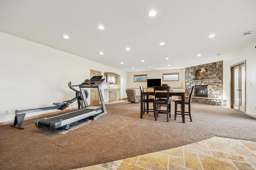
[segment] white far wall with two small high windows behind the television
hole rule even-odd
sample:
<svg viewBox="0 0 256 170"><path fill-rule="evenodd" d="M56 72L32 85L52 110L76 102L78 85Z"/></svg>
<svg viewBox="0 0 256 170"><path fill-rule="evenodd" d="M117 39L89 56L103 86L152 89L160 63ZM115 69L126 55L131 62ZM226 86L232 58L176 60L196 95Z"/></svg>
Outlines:
<svg viewBox="0 0 256 170"><path fill-rule="evenodd" d="M179 73L179 81L162 81L163 73ZM161 83L168 84L168 86L170 86L173 91L184 91L184 69L129 72L127 85L128 88L139 88L140 86L147 87L147 82L134 82L134 75L137 74L147 74L148 79L161 79ZM136 94L140 94L140 89L136 89Z"/></svg>

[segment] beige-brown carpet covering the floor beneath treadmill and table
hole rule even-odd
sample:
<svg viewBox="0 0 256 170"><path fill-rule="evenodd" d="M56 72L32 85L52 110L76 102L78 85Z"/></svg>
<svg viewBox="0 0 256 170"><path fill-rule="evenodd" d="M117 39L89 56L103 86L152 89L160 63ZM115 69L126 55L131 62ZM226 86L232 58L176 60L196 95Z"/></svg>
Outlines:
<svg viewBox="0 0 256 170"><path fill-rule="evenodd" d="M167 123L152 113L140 119L140 104L106 105L108 116L66 134L0 126L0 169L72 169L166 150L222 136L256 141L256 119L224 107L192 103L192 120Z"/></svg>

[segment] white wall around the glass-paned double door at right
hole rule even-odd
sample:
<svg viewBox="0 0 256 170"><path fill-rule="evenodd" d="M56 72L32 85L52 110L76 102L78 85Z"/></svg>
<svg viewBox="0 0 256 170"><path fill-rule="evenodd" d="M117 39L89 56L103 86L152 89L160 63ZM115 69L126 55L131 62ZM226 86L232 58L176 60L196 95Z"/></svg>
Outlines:
<svg viewBox="0 0 256 170"><path fill-rule="evenodd" d="M246 112L256 116L256 41L223 60L223 98L230 106L230 65L246 59Z"/></svg>

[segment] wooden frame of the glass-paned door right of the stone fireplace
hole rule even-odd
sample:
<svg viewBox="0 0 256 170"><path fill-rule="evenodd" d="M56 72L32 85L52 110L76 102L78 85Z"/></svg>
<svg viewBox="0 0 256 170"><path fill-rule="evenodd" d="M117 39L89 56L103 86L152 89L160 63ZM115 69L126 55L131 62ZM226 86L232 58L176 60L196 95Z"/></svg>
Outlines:
<svg viewBox="0 0 256 170"><path fill-rule="evenodd" d="M244 83L244 113L246 113L246 59L230 65L230 108L234 109L234 67L244 64L245 83Z"/></svg>

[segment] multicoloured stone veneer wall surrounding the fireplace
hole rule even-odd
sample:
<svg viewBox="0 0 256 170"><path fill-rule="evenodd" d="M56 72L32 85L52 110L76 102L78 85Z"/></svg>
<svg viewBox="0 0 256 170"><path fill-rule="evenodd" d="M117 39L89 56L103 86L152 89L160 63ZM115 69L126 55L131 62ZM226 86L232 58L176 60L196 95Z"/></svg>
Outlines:
<svg viewBox="0 0 256 170"><path fill-rule="evenodd" d="M199 80L198 80L199 79ZM194 103L225 106L223 99L223 61L188 67L185 69L185 92L189 96L194 85L208 85L208 98L192 98ZM194 96L194 92L193 95Z"/></svg>

